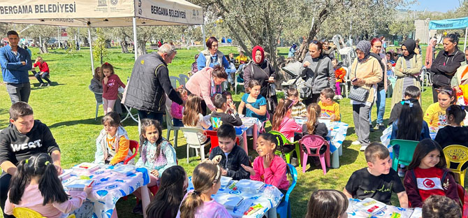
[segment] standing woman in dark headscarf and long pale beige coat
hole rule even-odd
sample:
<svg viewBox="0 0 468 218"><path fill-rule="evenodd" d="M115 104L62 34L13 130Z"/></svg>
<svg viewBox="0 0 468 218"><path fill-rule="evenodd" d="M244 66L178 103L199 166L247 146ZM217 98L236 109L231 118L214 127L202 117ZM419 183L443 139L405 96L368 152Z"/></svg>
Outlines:
<svg viewBox="0 0 468 218"><path fill-rule="evenodd" d="M423 57L421 54L416 54L416 41L409 38L402 44L403 56L397 59L395 65L395 88L393 89L391 108L404 99L404 91L407 87L414 85L421 89L421 83L416 80L416 74L423 68ZM421 99L419 100L421 104Z"/></svg>

